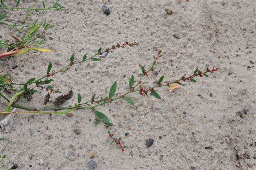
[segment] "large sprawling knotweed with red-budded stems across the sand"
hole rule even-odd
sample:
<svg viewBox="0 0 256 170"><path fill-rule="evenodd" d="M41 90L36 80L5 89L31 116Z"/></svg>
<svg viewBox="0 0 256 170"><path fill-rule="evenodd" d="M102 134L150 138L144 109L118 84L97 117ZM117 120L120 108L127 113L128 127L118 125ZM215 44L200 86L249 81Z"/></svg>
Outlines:
<svg viewBox="0 0 256 170"><path fill-rule="evenodd" d="M135 78L133 75L129 78L129 84L127 85L127 90L122 92L120 96L116 95L116 89L117 89L117 82L115 81L112 86L110 87L110 90L108 94L105 96L97 96L96 94L93 94L88 100L83 100L82 96L78 94L77 96L77 103L74 104L74 106L64 106L59 107L61 104L64 104L66 100L69 100L73 92L70 90L67 94L61 95L58 98L56 98L54 105L55 107L49 108L47 107L47 103L50 99L51 94L53 93L60 93L60 90L52 85L51 82L54 81L54 75L59 73L67 72L71 67L75 66L76 64L81 64L83 62L93 61L98 62L100 61L100 56L107 56L110 51L116 50L117 48L126 48L126 46L137 46L138 43L133 42L125 42L123 44L116 44L111 46L110 48L106 48L105 50L102 50L102 48L99 48L96 52L96 54L89 56L87 53L80 59L76 60L74 54L69 59L69 62L66 66L60 69L52 69L52 63L50 62L48 64L48 68L46 69L46 74L43 75L41 78L31 78L23 83L16 83L13 82L12 79L6 76L3 76L2 80L0 80L0 96L8 102L8 106L4 111L1 111L0 114L68 114L70 112L74 112L77 109L89 109L92 110L92 112L95 115L95 121L94 124L97 125L99 122L102 122L105 124L107 128L113 126L110 119L102 112L100 112L100 106L103 106L105 104L111 103L114 104L113 101L117 100L125 100L131 105L134 105L134 101L129 97L132 94L139 94L140 96L154 96L155 98L158 98L161 100L160 95L157 92L158 88L163 87L171 87L174 84L179 84L181 86L185 86L185 82L196 82L195 77L208 77L208 73L214 73L218 71L218 68L213 67L212 69L209 69L207 66L204 71L200 70L199 68L196 68L194 72L188 76L184 74L181 76L178 80L172 80L172 81L164 81L164 75L161 76L158 80L158 83L156 85L152 85L148 83L148 80L150 79L150 75L154 74L154 70L156 69L156 66L158 65L158 61L162 57L161 53L162 51L159 50L156 56L153 56L152 64L148 68L141 66L142 76L140 78ZM137 79L137 80L136 80ZM146 80L145 80L146 79ZM1 92L3 88L11 88L14 90L15 94L12 96L12 98L7 98L4 92ZM44 98L44 106L40 108L28 108L27 106L21 106L16 104L19 100L24 100L24 95L28 92L37 93L38 91L36 89L45 89L48 93ZM16 111L16 112L10 112L10 109L12 107L21 108L24 111ZM110 131L108 131L109 137L112 138L111 144L116 144L120 150L124 151L124 148L126 146L123 145L123 142L121 141L122 138L114 138L114 134L112 134Z"/></svg>

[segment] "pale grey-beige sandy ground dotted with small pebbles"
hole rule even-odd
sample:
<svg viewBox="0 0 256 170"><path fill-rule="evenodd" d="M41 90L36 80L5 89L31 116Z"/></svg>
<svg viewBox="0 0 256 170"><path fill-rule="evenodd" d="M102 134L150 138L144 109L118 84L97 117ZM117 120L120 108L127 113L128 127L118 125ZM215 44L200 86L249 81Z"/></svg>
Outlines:
<svg viewBox="0 0 256 170"><path fill-rule="evenodd" d="M45 2L47 5L50 0ZM21 5L32 3L26 0ZM101 11L104 3L110 8L109 16ZM44 35L43 47L58 52L40 56L30 53L0 62L0 70L10 69L14 82L39 78L50 61L53 68L61 68L72 53L82 58L85 52L94 54L100 46L107 48L126 40L140 46L115 50L101 62L80 64L54 76L54 86L65 93L70 88L74 91L67 104L74 104L78 93L83 100L90 99L94 92L106 95L114 81L118 82L117 93L125 92L131 74L138 80L139 64L150 64L159 49L164 57L158 75L148 77L150 82L162 74L166 76L164 81L176 80L197 66L204 69L206 64L220 71L197 78L197 83L188 83L173 93L162 88L158 90L162 100L131 94L134 107L124 101L101 107L100 111L114 123L112 131L128 146L125 152L110 146L102 124L94 127L90 110L77 110L72 118L52 116L52 120L45 115L17 115L12 132L0 132L5 138L0 142L0 154L6 154L8 166L16 163L19 170L84 170L89 169L87 153L91 150L98 170L256 169L255 0L182 0L181 4L174 0L64 0L63 5L64 10L40 16L40 22L51 18L56 23ZM166 8L172 8L173 14L164 15ZM6 19L13 22L20 14L24 16L25 11L9 14ZM29 20L39 17L32 14ZM10 28L0 26L0 36L11 42L9 32ZM17 64L14 70L13 64ZM40 108L46 91L39 91L32 101L20 104ZM5 107L0 98L0 110ZM244 109L248 112L242 118L237 112ZM82 129L80 135L73 132L77 124ZM32 136L30 129L35 131ZM46 139L48 135L52 140ZM146 148L148 138L153 138L154 144ZM205 149L208 146L211 149ZM75 160L68 160L65 150L74 151ZM39 166L41 158L44 163ZM239 162L240 168L236 166Z"/></svg>

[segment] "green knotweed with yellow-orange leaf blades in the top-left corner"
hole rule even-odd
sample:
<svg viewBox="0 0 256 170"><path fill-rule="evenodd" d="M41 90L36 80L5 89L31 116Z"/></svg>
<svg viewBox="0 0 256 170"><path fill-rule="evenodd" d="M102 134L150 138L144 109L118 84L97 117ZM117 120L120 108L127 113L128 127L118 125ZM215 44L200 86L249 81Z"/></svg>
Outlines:
<svg viewBox="0 0 256 170"><path fill-rule="evenodd" d="M29 52L30 50L40 52L51 52L51 50L49 49L40 48L40 46L45 43L44 38L42 38L42 35L49 28L55 27L55 24L53 24L51 20L44 20L40 23L39 20L36 19L28 25L17 24L17 22L9 23L4 21L4 18L10 14L10 10L28 10L29 12L24 18L24 20L26 21L26 18L28 17L31 11L35 11L42 14L41 11L44 10L61 10L62 8L64 8L63 6L60 5L58 0L54 2L53 5L50 7L47 7L46 4L42 2L42 8L34 8L37 2L38 0L36 0L32 8L22 8L19 7L20 0L16 1L15 6L6 6L6 1L0 0L0 25L6 25L14 30L17 30L17 35L12 35L14 42L8 43L7 40L0 40L0 49L5 48L7 50L7 52L0 54L0 60L10 56L20 55Z"/></svg>

